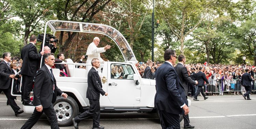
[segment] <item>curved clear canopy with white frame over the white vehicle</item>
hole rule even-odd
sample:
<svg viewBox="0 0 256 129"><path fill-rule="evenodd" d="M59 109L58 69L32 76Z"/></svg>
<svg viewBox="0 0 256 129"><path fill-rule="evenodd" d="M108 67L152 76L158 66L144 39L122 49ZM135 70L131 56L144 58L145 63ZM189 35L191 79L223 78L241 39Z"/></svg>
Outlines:
<svg viewBox="0 0 256 129"><path fill-rule="evenodd" d="M115 28L95 23L84 23L84 22L72 22L72 21L48 21L48 26L55 33L56 31L71 31L71 32L84 32L84 33L95 33L103 34L110 37L119 50L123 54L125 61L132 61L137 63L136 57L133 54L130 45L124 36L117 31Z"/></svg>

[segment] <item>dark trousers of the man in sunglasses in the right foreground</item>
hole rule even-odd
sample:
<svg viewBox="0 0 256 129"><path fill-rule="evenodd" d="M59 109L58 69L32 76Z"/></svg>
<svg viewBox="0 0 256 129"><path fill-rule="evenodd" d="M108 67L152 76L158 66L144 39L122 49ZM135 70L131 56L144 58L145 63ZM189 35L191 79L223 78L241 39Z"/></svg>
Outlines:
<svg viewBox="0 0 256 129"><path fill-rule="evenodd" d="M180 115L159 110L162 129L180 129Z"/></svg>

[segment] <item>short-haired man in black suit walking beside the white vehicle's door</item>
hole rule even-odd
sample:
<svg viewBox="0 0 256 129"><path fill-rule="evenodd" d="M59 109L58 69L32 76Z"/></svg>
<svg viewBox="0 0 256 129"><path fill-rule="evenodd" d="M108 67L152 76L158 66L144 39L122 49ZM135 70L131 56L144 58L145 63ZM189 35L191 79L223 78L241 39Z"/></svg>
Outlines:
<svg viewBox="0 0 256 129"><path fill-rule="evenodd" d="M75 129L78 129L78 124L83 119L93 116L93 129L104 129L104 126L100 126L100 94L107 96L108 93L102 90L100 76L98 74L98 68L100 68L100 60L93 58L91 60L93 66L88 72L88 87L86 91L86 97L89 99L90 108L82 114L72 119Z"/></svg>

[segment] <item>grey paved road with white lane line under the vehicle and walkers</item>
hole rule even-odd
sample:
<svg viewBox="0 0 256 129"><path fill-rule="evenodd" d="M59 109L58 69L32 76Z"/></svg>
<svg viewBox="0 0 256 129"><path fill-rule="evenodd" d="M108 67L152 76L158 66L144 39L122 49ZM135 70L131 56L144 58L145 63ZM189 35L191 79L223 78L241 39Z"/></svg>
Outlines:
<svg viewBox="0 0 256 129"><path fill-rule="evenodd" d="M190 124L196 129L255 129L256 128L256 95L252 100L244 100L242 95L209 96L199 101L192 100L189 107ZM18 99L20 99L18 97ZM17 101L22 107L22 104ZM30 117L30 114L21 114L15 117L10 106L6 106L6 97L0 94L0 129L18 129ZM102 126L106 129L160 129L160 122L154 113L101 113ZM46 116L43 115L33 129L50 129ZM73 129L73 126L60 129ZM91 129L92 120L86 119L79 124L79 128ZM181 122L183 128L183 122Z"/></svg>

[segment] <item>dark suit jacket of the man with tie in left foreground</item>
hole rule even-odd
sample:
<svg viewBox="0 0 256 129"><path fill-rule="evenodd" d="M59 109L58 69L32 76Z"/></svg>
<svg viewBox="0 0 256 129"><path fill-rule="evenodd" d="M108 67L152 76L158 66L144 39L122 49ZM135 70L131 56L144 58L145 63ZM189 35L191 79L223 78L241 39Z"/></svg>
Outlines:
<svg viewBox="0 0 256 129"><path fill-rule="evenodd" d="M54 92L53 87L55 88ZM35 76L33 92L34 106L42 105L43 108L48 108L56 101L57 95L61 95L63 93L57 87L55 77L52 78L46 64L38 70L38 73Z"/></svg>

